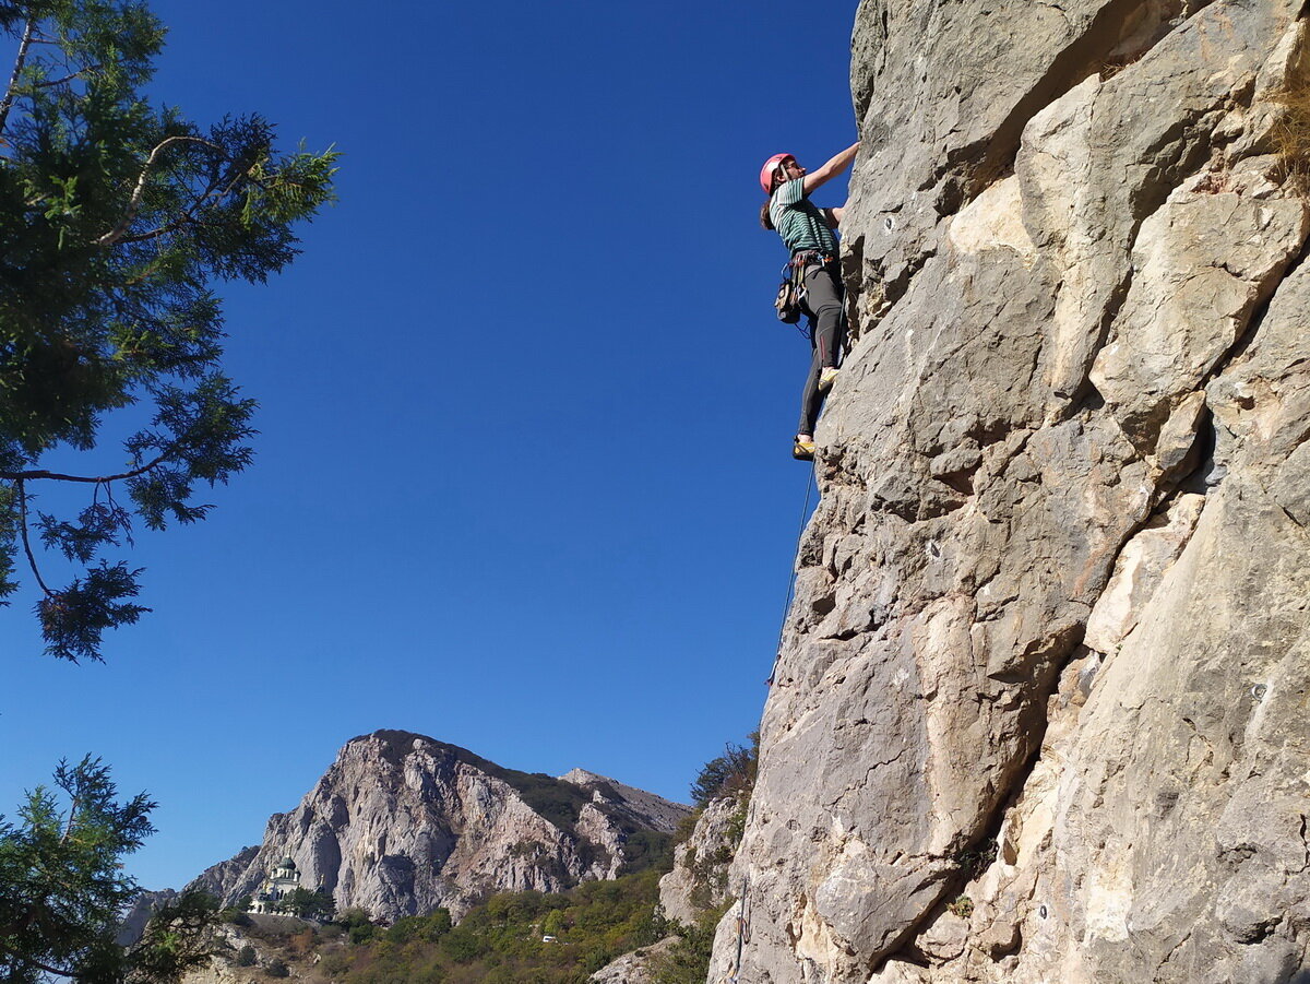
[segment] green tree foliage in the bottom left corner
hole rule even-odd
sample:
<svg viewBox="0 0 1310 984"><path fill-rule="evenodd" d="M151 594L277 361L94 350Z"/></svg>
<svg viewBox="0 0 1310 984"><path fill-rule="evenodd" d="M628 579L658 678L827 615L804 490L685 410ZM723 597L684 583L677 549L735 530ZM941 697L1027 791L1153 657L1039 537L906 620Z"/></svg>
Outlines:
<svg viewBox="0 0 1310 984"><path fill-rule="evenodd" d="M157 909L135 946L115 942L140 892L122 857L153 832L153 808L144 793L119 802L107 766L86 757L29 793L17 824L0 818L0 979L173 981L208 959L217 901L200 892Z"/></svg>

